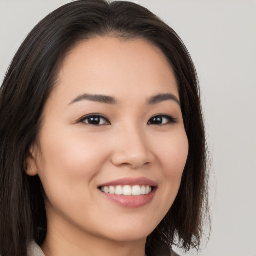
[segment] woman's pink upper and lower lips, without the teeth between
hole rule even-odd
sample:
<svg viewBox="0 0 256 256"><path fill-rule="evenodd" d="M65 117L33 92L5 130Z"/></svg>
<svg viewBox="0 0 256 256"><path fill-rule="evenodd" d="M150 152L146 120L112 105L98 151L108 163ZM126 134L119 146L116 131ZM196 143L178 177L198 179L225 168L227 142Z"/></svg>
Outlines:
<svg viewBox="0 0 256 256"><path fill-rule="evenodd" d="M103 186L117 186L117 185L149 185L152 186L153 189L149 194L144 195L117 195L117 194L109 194L100 191L100 193L111 202L118 204L123 207L127 208L138 208L142 207L148 203L150 203L153 200L153 197L156 192L156 182L154 182L151 179L140 177L140 178L121 178L116 179L110 182L106 182L103 184L100 184L99 187Z"/></svg>

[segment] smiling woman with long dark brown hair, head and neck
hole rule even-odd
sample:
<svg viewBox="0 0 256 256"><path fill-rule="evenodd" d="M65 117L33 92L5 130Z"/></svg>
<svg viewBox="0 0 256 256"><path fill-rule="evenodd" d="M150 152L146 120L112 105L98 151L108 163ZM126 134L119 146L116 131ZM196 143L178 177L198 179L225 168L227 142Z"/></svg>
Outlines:
<svg viewBox="0 0 256 256"><path fill-rule="evenodd" d="M135 3L79 0L24 40L0 90L1 255L175 255L207 212L196 72Z"/></svg>

